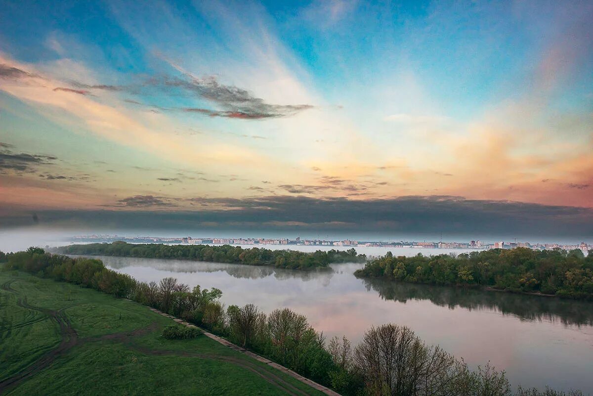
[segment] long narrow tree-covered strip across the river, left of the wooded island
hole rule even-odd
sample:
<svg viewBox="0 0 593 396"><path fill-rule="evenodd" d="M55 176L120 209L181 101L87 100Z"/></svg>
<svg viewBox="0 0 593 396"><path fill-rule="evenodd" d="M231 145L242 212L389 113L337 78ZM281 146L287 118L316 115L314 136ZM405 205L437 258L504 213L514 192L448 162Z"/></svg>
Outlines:
<svg viewBox="0 0 593 396"><path fill-rule="evenodd" d="M247 264L250 266L275 266L287 269L314 269L327 267L331 263L364 262L364 254L350 250L317 250L302 252L295 250L269 250L253 247L245 249L231 245L165 245L128 244L117 241L86 245L69 245L58 248L58 253L91 256L120 256L142 258L168 258L176 260L210 261L213 263Z"/></svg>

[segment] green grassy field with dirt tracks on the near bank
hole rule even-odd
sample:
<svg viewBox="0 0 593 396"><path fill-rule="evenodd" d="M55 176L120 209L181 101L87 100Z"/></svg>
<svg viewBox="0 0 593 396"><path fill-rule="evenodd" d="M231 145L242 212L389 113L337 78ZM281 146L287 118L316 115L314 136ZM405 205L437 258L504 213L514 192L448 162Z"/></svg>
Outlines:
<svg viewBox="0 0 593 396"><path fill-rule="evenodd" d="M0 394L323 395L146 306L0 268Z"/></svg>

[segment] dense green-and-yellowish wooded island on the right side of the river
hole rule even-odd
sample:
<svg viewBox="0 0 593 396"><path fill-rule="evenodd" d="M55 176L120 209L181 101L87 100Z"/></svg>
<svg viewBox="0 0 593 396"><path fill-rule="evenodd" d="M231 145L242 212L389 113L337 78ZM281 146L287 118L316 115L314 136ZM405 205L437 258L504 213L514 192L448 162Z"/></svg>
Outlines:
<svg viewBox="0 0 593 396"><path fill-rule="evenodd" d="M593 254L584 257L581 250L492 249L428 257L394 257L388 252L368 261L355 275L593 299Z"/></svg>

